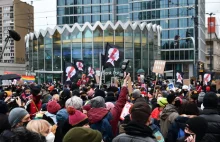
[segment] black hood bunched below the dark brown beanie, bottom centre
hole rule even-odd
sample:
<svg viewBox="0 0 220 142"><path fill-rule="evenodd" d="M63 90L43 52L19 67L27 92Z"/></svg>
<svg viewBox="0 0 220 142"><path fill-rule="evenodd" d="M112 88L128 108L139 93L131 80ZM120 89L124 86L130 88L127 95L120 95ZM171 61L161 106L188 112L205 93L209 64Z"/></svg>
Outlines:
<svg viewBox="0 0 220 142"><path fill-rule="evenodd" d="M131 136L155 138L153 136L153 131L150 127L135 121L131 121L126 126L124 126L124 130L126 134Z"/></svg>

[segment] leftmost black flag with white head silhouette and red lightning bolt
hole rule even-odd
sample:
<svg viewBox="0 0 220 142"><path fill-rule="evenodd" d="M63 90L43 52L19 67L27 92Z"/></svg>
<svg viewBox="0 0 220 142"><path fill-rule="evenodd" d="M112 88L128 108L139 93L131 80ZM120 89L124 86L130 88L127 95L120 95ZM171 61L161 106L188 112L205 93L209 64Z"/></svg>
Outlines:
<svg viewBox="0 0 220 142"><path fill-rule="evenodd" d="M71 81L72 77L76 75L76 69L72 63L64 62L64 80Z"/></svg>

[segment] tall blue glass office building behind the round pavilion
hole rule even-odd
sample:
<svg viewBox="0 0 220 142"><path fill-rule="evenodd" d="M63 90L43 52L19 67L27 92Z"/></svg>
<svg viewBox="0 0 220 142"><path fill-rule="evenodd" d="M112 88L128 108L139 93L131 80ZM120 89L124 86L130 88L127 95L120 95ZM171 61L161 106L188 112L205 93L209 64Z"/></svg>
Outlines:
<svg viewBox="0 0 220 142"><path fill-rule="evenodd" d="M61 27L108 20L161 25L161 58L167 61L165 70L173 70L168 78L176 71L184 78L197 76L197 62L205 62L205 0L57 0Z"/></svg>

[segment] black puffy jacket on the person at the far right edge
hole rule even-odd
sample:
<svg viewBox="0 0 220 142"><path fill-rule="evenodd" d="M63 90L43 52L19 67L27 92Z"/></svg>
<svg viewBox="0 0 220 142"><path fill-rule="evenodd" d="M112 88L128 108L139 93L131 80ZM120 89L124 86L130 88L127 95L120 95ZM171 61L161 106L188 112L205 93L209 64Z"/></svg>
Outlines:
<svg viewBox="0 0 220 142"><path fill-rule="evenodd" d="M220 115L218 115L218 111L205 108L200 116L208 122L208 129L203 137L203 141L220 142Z"/></svg>

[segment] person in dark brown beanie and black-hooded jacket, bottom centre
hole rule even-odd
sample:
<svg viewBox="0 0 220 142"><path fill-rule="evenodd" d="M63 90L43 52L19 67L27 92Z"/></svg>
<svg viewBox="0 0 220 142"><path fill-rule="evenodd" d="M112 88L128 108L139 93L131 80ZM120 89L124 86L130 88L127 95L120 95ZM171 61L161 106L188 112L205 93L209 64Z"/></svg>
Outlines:
<svg viewBox="0 0 220 142"><path fill-rule="evenodd" d="M151 109L147 103L137 102L131 109L131 121L121 134L112 142L155 142L153 131L149 127Z"/></svg>

